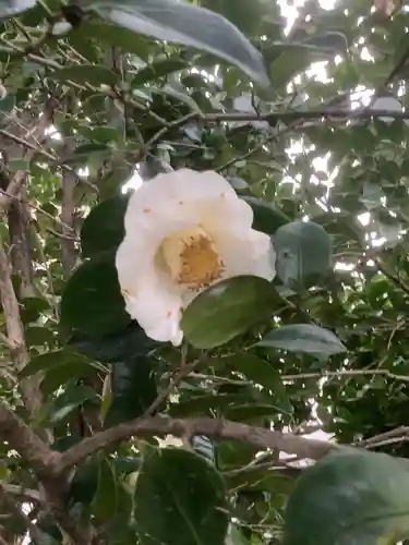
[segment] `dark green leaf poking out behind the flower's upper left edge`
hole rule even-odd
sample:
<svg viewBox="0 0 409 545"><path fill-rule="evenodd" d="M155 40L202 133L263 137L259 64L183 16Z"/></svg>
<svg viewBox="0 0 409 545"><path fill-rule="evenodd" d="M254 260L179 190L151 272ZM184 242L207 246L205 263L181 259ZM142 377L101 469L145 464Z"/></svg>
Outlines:
<svg viewBox="0 0 409 545"><path fill-rule="evenodd" d="M123 217L128 196L104 201L93 208L81 229L81 247L84 257L92 257L106 250L116 250L125 234Z"/></svg>

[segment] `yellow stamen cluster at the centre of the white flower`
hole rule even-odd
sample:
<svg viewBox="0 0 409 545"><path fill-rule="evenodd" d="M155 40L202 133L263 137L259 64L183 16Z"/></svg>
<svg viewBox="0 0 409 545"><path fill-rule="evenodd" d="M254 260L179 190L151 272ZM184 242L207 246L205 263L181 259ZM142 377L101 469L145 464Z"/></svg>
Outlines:
<svg viewBox="0 0 409 545"><path fill-rule="evenodd" d="M207 288L225 268L213 238L200 227L167 237L160 251L173 280L192 290Z"/></svg>

